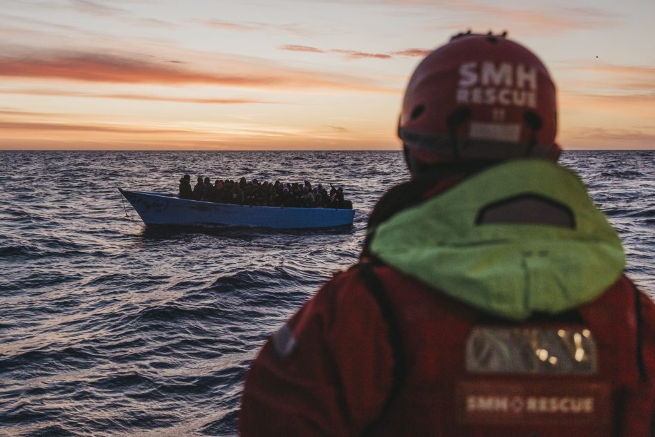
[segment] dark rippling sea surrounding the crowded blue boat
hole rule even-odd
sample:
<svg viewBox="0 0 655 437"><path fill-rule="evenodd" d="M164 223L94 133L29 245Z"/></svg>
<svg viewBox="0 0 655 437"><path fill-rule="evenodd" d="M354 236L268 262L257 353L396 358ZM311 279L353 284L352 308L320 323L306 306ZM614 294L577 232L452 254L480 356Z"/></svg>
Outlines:
<svg viewBox="0 0 655 437"><path fill-rule="evenodd" d="M655 298L655 150L565 151ZM342 186L352 228L147 228L118 187ZM0 152L0 436L234 436L250 362L359 258L397 151ZM282 401L282 400L281 400Z"/></svg>

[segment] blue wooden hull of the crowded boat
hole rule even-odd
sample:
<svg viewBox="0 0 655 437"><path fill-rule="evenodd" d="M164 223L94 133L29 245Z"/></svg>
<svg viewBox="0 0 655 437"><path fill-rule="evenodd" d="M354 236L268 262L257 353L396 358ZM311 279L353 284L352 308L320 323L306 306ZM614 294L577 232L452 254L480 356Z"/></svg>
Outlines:
<svg viewBox="0 0 655 437"><path fill-rule="evenodd" d="M219 204L147 191L127 191L121 188L119 191L145 224L312 229L352 225L355 215L354 209Z"/></svg>

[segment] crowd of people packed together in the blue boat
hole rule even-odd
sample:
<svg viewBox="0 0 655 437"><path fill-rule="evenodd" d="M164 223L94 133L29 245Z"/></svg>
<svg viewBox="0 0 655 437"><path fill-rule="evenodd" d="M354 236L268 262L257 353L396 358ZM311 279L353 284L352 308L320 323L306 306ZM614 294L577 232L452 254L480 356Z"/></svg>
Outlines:
<svg viewBox="0 0 655 437"><path fill-rule="evenodd" d="M291 206L294 208L339 208L352 209L352 202L343 198L343 188L330 184L330 191L318 184L312 188L309 181L304 183L282 183L279 180L262 182L257 179L239 181L216 179L212 184L209 177L198 177L191 188L190 175L180 179L181 199L203 200L223 204L252 206Z"/></svg>

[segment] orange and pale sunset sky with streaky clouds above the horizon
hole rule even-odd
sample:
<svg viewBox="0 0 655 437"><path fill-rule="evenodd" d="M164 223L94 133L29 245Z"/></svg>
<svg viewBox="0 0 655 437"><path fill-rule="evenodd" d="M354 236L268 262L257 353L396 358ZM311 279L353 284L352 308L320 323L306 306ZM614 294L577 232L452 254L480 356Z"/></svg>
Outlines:
<svg viewBox="0 0 655 437"><path fill-rule="evenodd" d="M655 148L653 0L1 4L0 149L398 150L408 77L467 29L550 68L563 148Z"/></svg>

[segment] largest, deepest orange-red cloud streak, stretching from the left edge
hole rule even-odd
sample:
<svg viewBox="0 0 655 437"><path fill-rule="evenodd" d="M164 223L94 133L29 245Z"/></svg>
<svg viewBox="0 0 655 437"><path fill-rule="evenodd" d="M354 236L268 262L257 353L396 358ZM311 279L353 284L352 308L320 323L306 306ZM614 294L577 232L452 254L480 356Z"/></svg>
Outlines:
<svg viewBox="0 0 655 437"><path fill-rule="evenodd" d="M116 55L85 52L23 57L0 57L0 77L63 79L121 84L212 84L258 88L339 88L345 90L394 92L370 81L348 75L290 68L250 66L246 72L210 73L181 64L170 65ZM262 72L265 71L265 72Z"/></svg>

